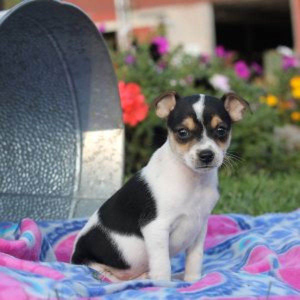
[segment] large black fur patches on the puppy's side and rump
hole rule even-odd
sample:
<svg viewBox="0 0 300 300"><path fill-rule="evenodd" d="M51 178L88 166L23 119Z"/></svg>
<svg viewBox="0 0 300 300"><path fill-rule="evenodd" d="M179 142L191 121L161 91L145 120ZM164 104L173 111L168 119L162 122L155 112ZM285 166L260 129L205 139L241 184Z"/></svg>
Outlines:
<svg viewBox="0 0 300 300"><path fill-rule="evenodd" d="M156 213L156 203L147 183L139 173L135 174L99 208L100 225L78 239L72 262L98 262L118 269L129 268L120 256L117 245L105 232L106 228L108 232L142 238L141 227L154 219Z"/></svg>

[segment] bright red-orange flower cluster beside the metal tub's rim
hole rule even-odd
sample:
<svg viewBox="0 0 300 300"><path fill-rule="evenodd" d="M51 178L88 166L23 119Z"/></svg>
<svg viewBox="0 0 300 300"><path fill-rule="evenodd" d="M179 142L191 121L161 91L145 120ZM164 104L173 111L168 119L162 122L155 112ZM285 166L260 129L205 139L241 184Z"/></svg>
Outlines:
<svg viewBox="0 0 300 300"><path fill-rule="evenodd" d="M125 124L135 126L148 114L148 105L145 97L140 91L138 84L134 82L118 82L121 107L123 110L123 120Z"/></svg>

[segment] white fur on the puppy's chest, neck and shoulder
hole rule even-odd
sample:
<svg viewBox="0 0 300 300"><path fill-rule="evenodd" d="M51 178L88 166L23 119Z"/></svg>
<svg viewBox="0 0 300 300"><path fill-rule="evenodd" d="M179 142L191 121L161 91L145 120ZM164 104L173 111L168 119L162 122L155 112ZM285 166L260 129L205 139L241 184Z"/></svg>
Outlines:
<svg viewBox="0 0 300 300"><path fill-rule="evenodd" d="M170 155L167 142L142 170L156 199L157 218L169 228L169 252L187 248L217 199L217 170L197 174Z"/></svg>

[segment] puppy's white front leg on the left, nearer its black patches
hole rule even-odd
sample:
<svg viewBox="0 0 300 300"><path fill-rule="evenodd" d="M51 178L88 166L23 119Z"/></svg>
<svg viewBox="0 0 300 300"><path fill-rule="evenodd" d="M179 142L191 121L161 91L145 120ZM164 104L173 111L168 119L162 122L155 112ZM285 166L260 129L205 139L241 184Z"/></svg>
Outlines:
<svg viewBox="0 0 300 300"><path fill-rule="evenodd" d="M170 280L169 231L161 222L151 222L142 229L150 279Z"/></svg>

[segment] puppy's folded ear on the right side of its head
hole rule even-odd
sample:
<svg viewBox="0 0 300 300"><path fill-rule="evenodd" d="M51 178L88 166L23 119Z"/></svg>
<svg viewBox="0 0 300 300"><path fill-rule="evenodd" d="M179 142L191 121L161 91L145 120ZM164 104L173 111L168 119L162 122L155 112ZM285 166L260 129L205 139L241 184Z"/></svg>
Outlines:
<svg viewBox="0 0 300 300"><path fill-rule="evenodd" d="M249 103L233 92L225 93L221 100L224 102L224 107L234 122L242 119L247 108L250 110Z"/></svg>

